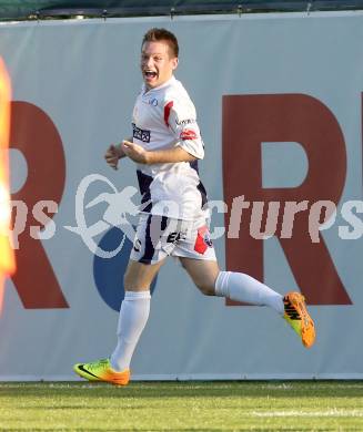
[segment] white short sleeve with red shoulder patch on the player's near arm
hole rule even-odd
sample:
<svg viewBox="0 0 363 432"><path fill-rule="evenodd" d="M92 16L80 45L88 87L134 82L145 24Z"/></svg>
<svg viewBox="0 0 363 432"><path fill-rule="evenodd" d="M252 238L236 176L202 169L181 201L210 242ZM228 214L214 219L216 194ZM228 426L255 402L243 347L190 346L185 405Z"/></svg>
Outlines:
<svg viewBox="0 0 363 432"><path fill-rule="evenodd" d="M204 157L204 144L191 101L169 101L164 105L164 122L173 133L178 146L199 160Z"/></svg>

